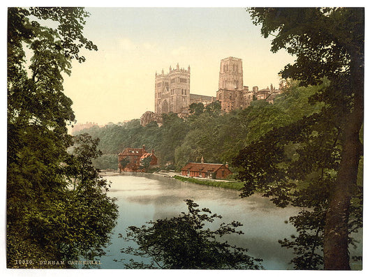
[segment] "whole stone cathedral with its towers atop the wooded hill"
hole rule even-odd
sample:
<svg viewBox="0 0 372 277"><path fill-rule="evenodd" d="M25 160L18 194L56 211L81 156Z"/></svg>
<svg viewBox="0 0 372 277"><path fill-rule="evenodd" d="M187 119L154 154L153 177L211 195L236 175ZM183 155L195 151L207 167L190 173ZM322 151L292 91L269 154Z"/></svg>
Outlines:
<svg viewBox="0 0 372 277"><path fill-rule="evenodd" d="M275 89L272 85L270 89L258 90L258 87L253 87L249 91L243 84L243 62L235 57L221 60L216 97L190 93L190 75L190 66L186 70L179 68L178 63L176 68L170 66L166 74L164 70L161 74L155 73L155 112L142 114L142 126L151 121L161 123L161 115L170 112L181 118L188 117L188 107L192 103L203 103L205 106L218 100L221 110L230 112L248 107L253 100L265 99L272 103L275 96L281 93L281 89Z"/></svg>

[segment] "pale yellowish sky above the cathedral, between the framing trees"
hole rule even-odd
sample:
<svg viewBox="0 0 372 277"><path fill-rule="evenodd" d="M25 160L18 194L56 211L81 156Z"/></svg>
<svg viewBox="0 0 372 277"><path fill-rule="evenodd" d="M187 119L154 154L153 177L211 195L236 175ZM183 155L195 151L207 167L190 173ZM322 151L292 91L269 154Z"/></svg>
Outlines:
<svg viewBox="0 0 372 277"><path fill-rule="evenodd" d="M244 8L87 8L84 34L98 51L73 63L65 93L77 123L140 118L154 111L155 73L191 67L190 92L216 96L221 59L243 60L244 85L278 87L278 72L293 61L271 53Z"/></svg>

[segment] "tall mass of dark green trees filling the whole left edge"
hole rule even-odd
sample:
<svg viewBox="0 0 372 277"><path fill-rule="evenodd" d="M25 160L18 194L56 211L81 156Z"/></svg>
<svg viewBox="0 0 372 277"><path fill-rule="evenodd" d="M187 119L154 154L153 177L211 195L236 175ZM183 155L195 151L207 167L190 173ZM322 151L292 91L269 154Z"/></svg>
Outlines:
<svg viewBox="0 0 372 277"><path fill-rule="evenodd" d="M82 47L97 50L82 34L88 15L83 8L8 8L8 267L101 255L114 226L117 208L91 167L96 142L85 137L77 141L82 151L67 151L73 137L66 126L75 117L63 74L73 59L85 60ZM25 259L34 263L15 262Z"/></svg>

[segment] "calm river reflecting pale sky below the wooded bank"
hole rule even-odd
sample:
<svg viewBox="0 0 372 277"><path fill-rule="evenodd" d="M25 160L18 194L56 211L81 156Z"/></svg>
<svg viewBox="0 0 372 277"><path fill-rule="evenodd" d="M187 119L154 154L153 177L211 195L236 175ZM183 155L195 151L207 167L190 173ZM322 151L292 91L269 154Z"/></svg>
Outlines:
<svg viewBox="0 0 372 277"><path fill-rule="evenodd" d="M248 255L261 258L265 269L292 269L289 264L292 250L281 248L278 239L289 239L296 233L285 220L297 214L297 208L281 209L260 195L242 199L236 190L191 184L153 174L115 174L104 178L112 183L108 195L117 198L119 218L111 244L105 248L106 255L100 258L103 269L123 269L123 262L114 260L124 258L128 262L131 258L120 253L128 242L118 237L126 234L128 226L140 227L149 220L178 216L181 211L187 211L185 199L194 200L200 208L211 209L212 214L220 214L223 216L221 222L241 222L243 226L238 230L244 234L230 235L228 242L248 248Z"/></svg>

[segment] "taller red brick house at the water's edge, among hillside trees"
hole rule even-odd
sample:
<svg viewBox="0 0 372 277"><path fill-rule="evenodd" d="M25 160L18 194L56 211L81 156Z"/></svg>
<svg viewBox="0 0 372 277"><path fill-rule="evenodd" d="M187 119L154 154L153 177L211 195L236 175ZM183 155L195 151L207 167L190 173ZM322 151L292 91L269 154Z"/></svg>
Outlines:
<svg viewBox="0 0 372 277"><path fill-rule="evenodd" d="M119 172L144 172L143 160L151 157L150 167L158 165L158 158L154 155L154 150L147 153L144 145L142 148L126 148L117 157Z"/></svg>

